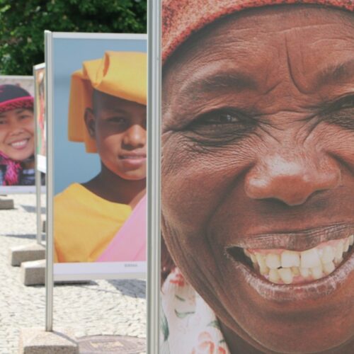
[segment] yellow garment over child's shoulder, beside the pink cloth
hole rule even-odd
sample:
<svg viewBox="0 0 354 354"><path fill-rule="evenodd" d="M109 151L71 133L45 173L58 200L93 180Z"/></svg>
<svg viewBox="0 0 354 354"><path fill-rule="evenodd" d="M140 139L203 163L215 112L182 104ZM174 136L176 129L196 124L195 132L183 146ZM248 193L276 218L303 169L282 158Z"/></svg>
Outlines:
<svg viewBox="0 0 354 354"><path fill-rule="evenodd" d="M131 212L130 205L69 185L54 198L55 262L96 261Z"/></svg>

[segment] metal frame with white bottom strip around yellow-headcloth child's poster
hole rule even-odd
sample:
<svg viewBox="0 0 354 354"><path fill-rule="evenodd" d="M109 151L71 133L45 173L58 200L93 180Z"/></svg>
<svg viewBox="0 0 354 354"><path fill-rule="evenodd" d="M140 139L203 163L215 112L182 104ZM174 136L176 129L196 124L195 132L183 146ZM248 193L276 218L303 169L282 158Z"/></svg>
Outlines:
<svg viewBox="0 0 354 354"><path fill-rule="evenodd" d="M54 263L54 196L55 196L55 40L147 40L145 34L115 33L61 33L45 31L45 97L46 97L46 331L52 331L53 287L55 281L82 281L98 279L144 279L147 262L93 262ZM110 50L110 49L109 49ZM149 166L149 156L148 156ZM149 190L149 188L147 188ZM114 267L113 267L114 265Z"/></svg>

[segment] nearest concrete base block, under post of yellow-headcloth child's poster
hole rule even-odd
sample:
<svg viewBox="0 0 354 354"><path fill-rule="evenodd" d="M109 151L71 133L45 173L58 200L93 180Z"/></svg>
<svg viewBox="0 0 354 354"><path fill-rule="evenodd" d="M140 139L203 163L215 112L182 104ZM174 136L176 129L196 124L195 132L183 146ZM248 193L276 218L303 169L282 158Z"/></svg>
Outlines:
<svg viewBox="0 0 354 354"><path fill-rule="evenodd" d="M19 354L79 354L74 331L45 332L39 328L21 329Z"/></svg>

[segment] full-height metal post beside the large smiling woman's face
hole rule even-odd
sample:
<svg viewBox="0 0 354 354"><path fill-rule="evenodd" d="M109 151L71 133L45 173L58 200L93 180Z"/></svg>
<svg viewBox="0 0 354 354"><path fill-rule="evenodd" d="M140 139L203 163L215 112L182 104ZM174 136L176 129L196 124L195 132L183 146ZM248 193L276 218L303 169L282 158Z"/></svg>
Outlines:
<svg viewBox="0 0 354 354"><path fill-rule="evenodd" d="M147 353L159 353L161 1L148 1Z"/></svg>

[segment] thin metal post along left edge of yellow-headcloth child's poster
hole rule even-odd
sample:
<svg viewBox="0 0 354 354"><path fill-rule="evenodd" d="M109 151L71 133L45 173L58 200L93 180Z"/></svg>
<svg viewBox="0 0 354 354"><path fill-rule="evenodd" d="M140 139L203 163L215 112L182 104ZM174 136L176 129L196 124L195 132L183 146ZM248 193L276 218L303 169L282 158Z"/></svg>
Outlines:
<svg viewBox="0 0 354 354"><path fill-rule="evenodd" d="M46 197L47 197L47 221L46 221L46 243L45 243L45 331L53 329L53 55L52 55L52 33L45 31L45 97L46 110L45 120L47 122L47 173L45 173Z"/></svg>

